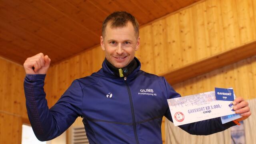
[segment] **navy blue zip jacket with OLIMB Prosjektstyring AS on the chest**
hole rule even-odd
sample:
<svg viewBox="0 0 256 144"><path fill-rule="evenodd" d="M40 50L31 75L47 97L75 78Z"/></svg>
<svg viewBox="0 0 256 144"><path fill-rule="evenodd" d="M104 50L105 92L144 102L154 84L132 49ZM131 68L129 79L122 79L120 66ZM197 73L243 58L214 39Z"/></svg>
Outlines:
<svg viewBox="0 0 256 144"><path fill-rule="evenodd" d="M36 137L51 140L81 116L90 144L162 143L162 117L172 121L167 99L180 94L164 77L140 70L138 63L130 75L120 78L104 61L98 72L74 80L50 109L43 88L46 75L26 75L26 106ZM234 125L215 118L180 128L190 134L208 135Z"/></svg>

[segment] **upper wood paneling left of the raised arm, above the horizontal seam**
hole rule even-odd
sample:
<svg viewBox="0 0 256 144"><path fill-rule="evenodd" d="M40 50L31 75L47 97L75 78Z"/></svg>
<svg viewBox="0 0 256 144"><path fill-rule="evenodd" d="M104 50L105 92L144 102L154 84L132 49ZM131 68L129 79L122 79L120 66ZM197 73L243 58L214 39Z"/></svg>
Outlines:
<svg viewBox="0 0 256 144"><path fill-rule="evenodd" d="M0 57L0 110L27 118L23 66Z"/></svg>

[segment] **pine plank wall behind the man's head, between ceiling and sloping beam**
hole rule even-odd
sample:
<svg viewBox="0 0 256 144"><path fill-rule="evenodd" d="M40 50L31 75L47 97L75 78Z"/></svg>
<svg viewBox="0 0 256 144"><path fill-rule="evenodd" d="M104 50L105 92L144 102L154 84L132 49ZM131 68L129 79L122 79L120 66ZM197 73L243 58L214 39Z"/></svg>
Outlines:
<svg viewBox="0 0 256 144"><path fill-rule="evenodd" d="M142 70L162 75L256 40L256 0L205 0L140 28ZM52 66L46 89L55 98L75 78L101 68L100 46ZM57 80L57 81L55 81Z"/></svg>

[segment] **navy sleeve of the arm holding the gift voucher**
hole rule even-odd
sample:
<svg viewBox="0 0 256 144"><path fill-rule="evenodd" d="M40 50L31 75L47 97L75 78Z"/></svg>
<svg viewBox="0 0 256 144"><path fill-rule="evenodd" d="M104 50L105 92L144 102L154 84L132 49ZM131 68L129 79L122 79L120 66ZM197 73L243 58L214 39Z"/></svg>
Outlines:
<svg viewBox="0 0 256 144"><path fill-rule="evenodd" d="M180 97L180 94L178 94L168 82L166 82L166 79L164 78L164 82L166 85L166 92L167 92L167 99L170 98L178 98ZM172 115L168 106L168 102L166 100L167 108L165 112L165 117L168 118L171 122L172 120ZM194 135L209 135L209 134L214 134L216 132L221 132L223 130L226 130L230 128L231 126L235 126L234 122L228 122L226 124L222 124L220 117L219 118L212 118L208 120L203 120L199 122L193 122L190 124L184 124L180 125L179 127L182 130L185 130L189 134L194 134Z"/></svg>

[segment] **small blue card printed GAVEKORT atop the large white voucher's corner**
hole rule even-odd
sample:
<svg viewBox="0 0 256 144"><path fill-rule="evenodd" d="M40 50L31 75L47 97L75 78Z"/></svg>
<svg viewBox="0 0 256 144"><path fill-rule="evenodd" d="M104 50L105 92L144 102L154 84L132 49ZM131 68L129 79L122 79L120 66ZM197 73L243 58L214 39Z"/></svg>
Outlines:
<svg viewBox="0 0 256 144"><path fill-rule="evenodd" d="M234 91L228 88L215 88L216 100L234 101Z"/></svg>

